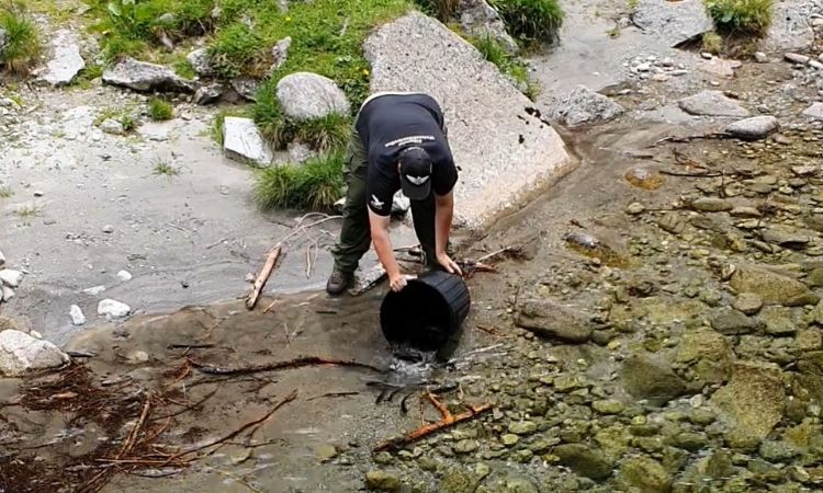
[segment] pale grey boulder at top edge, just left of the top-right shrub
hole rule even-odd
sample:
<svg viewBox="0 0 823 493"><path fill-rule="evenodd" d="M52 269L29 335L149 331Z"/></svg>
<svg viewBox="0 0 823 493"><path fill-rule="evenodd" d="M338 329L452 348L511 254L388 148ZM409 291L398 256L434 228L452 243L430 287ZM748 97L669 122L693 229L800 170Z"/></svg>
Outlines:
<svg viewBox="0 0 823 493"><path fill-rule="evenodd" d="M677 46L714 28L702 0L640 0L632 22L645 33L663 38L668 46Z"/></svg>

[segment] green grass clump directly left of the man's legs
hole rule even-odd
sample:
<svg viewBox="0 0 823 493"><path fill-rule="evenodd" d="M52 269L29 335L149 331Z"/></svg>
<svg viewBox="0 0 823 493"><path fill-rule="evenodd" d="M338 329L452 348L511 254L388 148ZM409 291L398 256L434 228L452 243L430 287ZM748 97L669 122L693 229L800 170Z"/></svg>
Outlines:
<svg viewBox="0 0 823 493"><path fill-rule="evenodd" d="M256 175L255 198L262 210L329 210L343 193L343 154L311 158L303 164L266 168Z"/></svg>

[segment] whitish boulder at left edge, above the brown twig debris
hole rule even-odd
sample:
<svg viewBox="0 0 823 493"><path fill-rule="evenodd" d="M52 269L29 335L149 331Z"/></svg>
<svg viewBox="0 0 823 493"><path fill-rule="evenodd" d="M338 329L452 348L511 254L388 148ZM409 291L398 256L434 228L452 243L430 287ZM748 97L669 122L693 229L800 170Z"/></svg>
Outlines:
<svg viewBox="0 0 823 493"><path fill-rule="evenodd" d="M57 346L31 335L8 330L0 332L0 375L21 377L27 371L57 368L69 357Z"/></svg>

